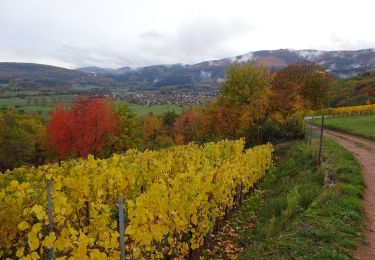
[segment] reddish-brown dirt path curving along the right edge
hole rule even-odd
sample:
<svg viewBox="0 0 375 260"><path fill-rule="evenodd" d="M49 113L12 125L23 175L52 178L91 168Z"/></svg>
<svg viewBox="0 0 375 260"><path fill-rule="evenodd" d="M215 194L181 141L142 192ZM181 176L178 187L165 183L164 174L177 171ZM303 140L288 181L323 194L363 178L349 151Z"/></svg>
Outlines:
<svg viewBox="0 0 375 260"><path fill-rule="evenodd" d="M332 130L324 130L324 135L352 152L361 165L366 183L364 205L368 245L360 247L354 256L357 259L375 259L375 142Z"/></svg>

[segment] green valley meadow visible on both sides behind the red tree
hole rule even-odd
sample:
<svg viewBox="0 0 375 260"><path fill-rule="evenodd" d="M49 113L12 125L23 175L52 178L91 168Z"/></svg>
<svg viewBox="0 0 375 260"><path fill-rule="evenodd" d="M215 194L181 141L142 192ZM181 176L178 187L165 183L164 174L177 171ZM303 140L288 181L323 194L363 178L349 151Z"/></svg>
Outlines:
<svg viewBox="0 0 375 260"><path fill-rule="evenodd" d="M30 101L27 98L12 97L12 98L0 98L0 109L2 108L12 108L18 111L23 111L25 113L36 113L41 117L48 119L49 111L53 110L53 102L51 97L30 97ZM59 95L55 96L56 100L59 102L70 102L74 98L73 95ZM120 104L123 101L116 101L115 103ZM129 108L133 110L137 115L144 116L149 113L155 115L160 115L168 111L175 111L176 113L181 113L189 106L187 105L151 105L142 106L136 104L128 104Z"/></svg>

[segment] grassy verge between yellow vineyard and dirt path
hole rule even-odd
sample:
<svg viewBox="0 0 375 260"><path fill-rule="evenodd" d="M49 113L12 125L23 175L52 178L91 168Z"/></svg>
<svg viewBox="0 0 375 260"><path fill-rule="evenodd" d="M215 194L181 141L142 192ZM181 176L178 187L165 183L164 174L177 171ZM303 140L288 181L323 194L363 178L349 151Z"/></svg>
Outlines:
<svg viewBox="0 0 375 260"><path fill-rule="evenodd" d="M240 230L239 259L350 259L364 241L357 161L330 139L324 140L322 171L304 141L279 147L277 155L275 167L229 220Z"/></svg>

